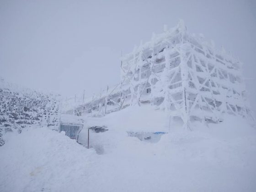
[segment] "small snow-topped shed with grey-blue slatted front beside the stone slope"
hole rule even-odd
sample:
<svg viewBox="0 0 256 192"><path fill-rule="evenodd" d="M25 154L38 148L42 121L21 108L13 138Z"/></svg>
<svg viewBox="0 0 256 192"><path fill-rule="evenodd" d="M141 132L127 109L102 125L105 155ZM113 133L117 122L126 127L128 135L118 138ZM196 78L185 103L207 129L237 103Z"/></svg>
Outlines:
<svg viewBox="0 0 256 192"><path fill-rule="evenodd" d="M60 118L59 132L64 131L71 139L78 141L78 136L84 127L84 120L74 115L62 115Z"/></svg>

